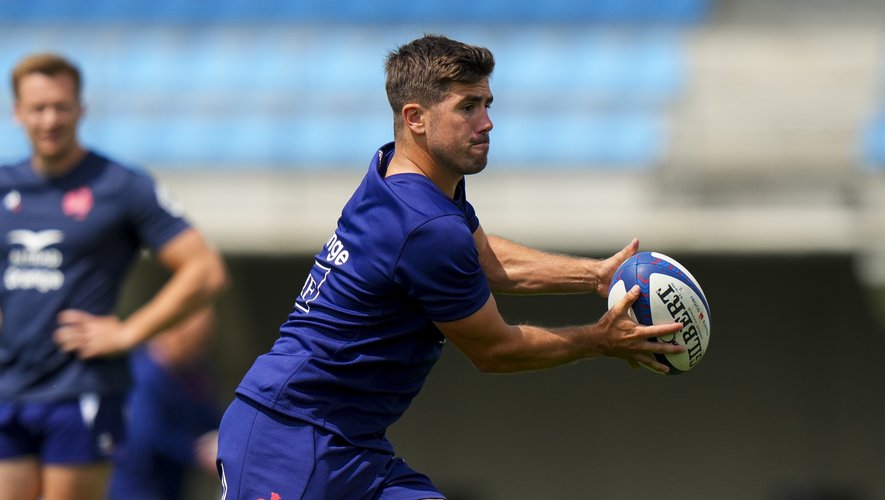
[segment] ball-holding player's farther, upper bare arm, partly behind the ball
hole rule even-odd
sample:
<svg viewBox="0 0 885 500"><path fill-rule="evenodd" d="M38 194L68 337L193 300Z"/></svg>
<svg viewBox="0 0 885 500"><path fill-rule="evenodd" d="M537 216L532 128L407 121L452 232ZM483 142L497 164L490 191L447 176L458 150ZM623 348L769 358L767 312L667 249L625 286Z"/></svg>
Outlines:
<svg viewBox="0 0 885 500"><path fill-rule="evenodd" d="M498 236L474 232L489 286L498 293L597 293L608 295L615 270L639 249L634 239L607 259L543 252Z"/></svg>

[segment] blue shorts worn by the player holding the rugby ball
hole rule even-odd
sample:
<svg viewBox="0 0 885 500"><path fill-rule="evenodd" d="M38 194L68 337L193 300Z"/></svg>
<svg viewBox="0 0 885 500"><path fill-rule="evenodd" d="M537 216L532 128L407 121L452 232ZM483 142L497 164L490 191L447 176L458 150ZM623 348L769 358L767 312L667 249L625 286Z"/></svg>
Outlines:
<svg viewBox="0 0 885 500"><path fill-rule="evenodd" d="M427 476L391 453L353 446L240 399L228 407L218 433L224 500L445 498Z"/></svg>

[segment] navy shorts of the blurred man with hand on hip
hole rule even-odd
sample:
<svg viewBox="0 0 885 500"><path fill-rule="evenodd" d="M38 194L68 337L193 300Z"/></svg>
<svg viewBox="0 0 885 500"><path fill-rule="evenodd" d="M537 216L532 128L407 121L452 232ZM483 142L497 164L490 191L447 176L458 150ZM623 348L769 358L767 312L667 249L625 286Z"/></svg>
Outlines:
<svg viewBox="0 0 885 500"><path fill-rule="evenodd" d="M0 402L0 460L36 456L45 464L110 460L122 445L123 396L84 394L58 403Z"/></svg>

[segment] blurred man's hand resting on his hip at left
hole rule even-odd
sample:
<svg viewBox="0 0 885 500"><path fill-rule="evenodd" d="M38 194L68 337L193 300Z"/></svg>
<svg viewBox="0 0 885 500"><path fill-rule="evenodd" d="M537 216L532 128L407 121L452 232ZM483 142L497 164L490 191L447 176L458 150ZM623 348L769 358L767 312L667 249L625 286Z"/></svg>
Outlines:
<svg viewBox="0 0 885 500"><path fill-rule="evenodd" d="M52 339L63 352L76 353L81 359L118 356L132 348L123 322L116 316L66 309L58 314L58 324Z"/></svg>

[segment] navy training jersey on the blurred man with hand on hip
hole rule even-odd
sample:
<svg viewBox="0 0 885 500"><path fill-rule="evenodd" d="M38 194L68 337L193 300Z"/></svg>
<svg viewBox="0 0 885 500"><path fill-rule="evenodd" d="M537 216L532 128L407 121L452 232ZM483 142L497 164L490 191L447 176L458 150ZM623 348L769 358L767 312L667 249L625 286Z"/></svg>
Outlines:
<svg viewBox="0 0 885 500"><path fill-rule="evenodd" d="M125 392L126 358L62 353L57 315L113 314L140 249L159 249L188 223L146 173L92 152L57 178L30 160L0 168L0 202L0 401Z"/></svg>

